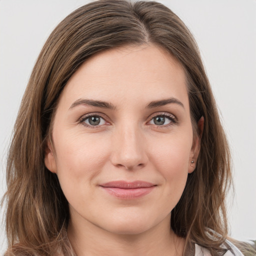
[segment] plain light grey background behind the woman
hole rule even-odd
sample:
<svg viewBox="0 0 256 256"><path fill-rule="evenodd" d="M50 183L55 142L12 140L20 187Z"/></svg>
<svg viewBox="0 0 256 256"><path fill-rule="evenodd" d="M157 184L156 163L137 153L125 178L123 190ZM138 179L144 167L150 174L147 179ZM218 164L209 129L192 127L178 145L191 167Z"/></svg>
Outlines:
<svg viewBox="0 0 256 256"><path fill-rule="evenodd" d="M35 59L57 23L86 0L0 0L0 197L11 129ZM232 149L234 238L256 239L256 0L160 0L190 28ZM0 217L3 216L1 209ZM0 254L6 248L0 227Z"/></svg>

